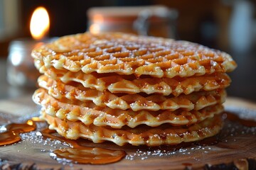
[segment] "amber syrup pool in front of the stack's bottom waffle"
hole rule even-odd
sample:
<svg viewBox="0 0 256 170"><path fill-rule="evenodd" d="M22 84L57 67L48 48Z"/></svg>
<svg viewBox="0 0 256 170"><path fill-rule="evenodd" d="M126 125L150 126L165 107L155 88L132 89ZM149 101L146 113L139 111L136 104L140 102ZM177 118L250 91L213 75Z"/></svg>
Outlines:
<svg viewBox="0 0 256 170"><path fill-rule="evenodd" d="M50 153L53 159L68 159L79 164L110 164L118 162L126 155L126 152L120 150L82 147L76 140L68 140L65 137L53 135L55 132L55 130L49 130L48 128L41 131L44 137L68 143L72 148L56 149Z"/></svg>

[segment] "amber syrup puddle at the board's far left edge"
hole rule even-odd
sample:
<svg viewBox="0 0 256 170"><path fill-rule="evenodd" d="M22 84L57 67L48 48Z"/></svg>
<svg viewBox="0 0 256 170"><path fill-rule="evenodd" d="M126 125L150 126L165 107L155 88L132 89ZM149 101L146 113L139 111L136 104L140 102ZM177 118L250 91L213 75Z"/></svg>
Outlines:
<svg viewBox="0 0 256 170"><path fill-rule="evenodd" d="M20 141L19 134L36 130L36 124L32 120L28 120L26 123L11 123L2 128L5 132L0 133L0 146L11 145Z"/></svg>

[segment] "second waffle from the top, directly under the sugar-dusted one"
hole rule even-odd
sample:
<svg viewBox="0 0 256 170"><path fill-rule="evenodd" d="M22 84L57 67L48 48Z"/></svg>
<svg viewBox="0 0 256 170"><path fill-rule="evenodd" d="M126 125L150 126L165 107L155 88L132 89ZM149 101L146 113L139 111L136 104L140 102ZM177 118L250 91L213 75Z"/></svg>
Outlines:
<svg viewBox="0 0 256 170"><path fill-rule="evenodd" d="M174 77L172 79L146 77L137 79L136 77L124 77L118 74L84 74L81 71L74 73L53 67L50 69L40 67L40 70L41 73L51 79L63 81L65 84L75 81L85 88L97 89L98 91L108 90L113 94L146 93L178 96L180 94L191 94L193 91L224 89L230 85L230 77L225 73L207 74L203 77Z"/></svg>

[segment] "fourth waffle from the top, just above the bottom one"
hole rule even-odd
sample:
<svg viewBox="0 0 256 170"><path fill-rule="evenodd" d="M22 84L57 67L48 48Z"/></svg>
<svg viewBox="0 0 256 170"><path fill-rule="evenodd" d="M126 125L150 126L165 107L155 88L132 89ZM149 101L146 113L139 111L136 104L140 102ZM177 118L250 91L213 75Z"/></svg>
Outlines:
<svg viewBox="0 0 256 170"><path fill-rule="evenodd" d="M221 104L208 106L200 111L123 111L108 107L95 106L92 103L77 103L73 101L61 102L49 96L45 90L38 89L33 95L33 101L43 106L48 115L71 121L80 120L85 125L111 126L122 128L127 125L131 128L137 125L156 127L164 123L171 125L191 125L206 118L213 117L223 111Z"/></svg>

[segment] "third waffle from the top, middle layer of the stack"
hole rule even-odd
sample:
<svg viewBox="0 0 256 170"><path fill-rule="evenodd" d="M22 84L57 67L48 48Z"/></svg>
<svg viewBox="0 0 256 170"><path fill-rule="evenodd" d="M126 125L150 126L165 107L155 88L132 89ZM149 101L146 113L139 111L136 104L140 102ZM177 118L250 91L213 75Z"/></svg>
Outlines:
<svg viewBox="0 0 256 170"><path fill-rule="evenodd" d="M38 84L48 91L50 96L60 99L70 99L73 101L93 102L97 106L107 106L109 108L119 108L122 110L132 109L132 111L175 111L183 108L186 111L195 109L196 111L206 106L225 101L225 90L220 91L199 91L189 95L162 96L159 94L142 96L140 94L112 94L110 91L97 91L87 89L82 84L63 84L46 76L38 78Z"/></svg>

